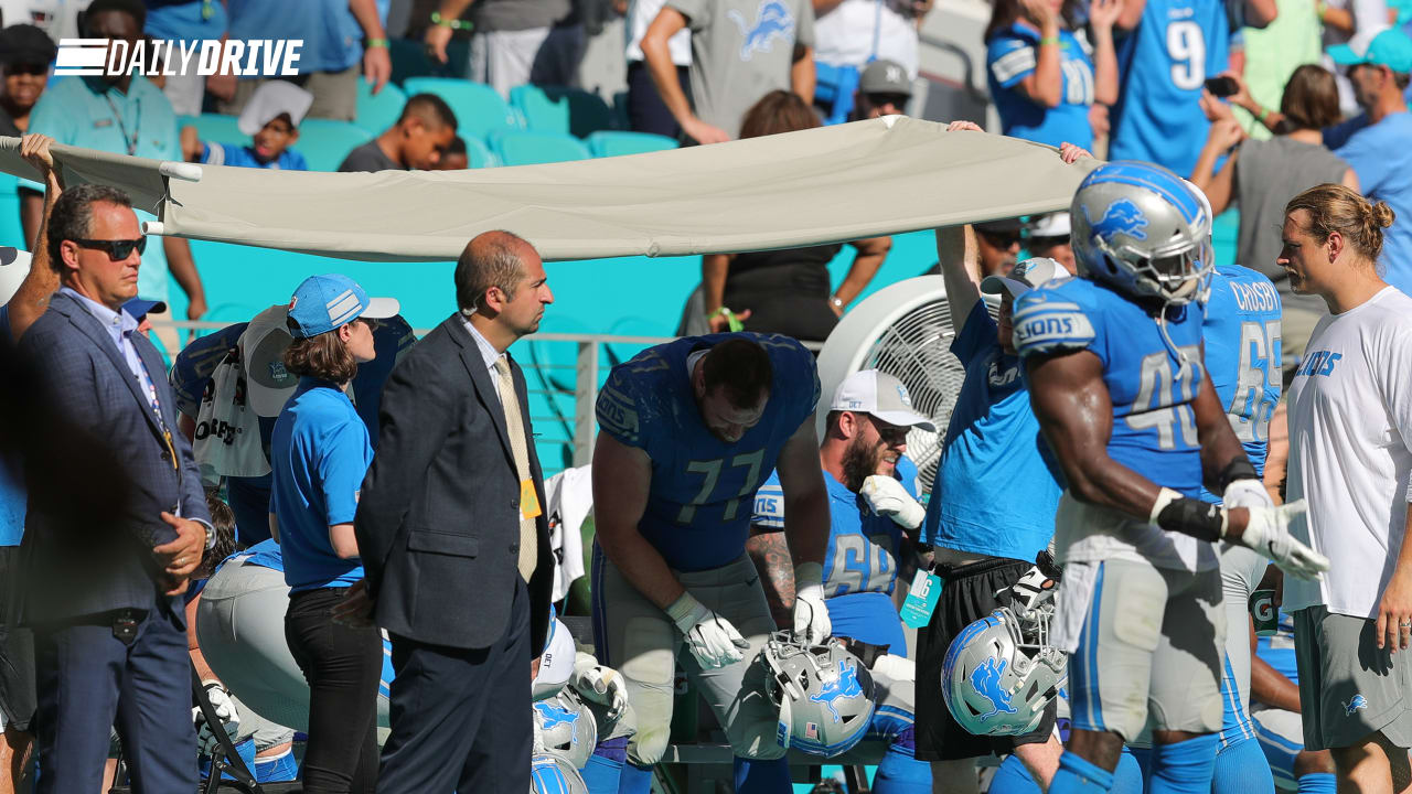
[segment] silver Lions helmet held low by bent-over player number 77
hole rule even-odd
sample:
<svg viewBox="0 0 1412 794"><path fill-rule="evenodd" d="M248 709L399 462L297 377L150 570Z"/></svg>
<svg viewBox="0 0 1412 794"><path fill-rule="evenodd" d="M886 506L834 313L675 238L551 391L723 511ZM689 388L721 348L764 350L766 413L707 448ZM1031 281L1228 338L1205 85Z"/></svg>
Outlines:
<svg viewBox="0 0 1412 794"><path fill-rule="evenodd" d="M853 749L868 732L873 675L842 640L808 646L777 632L760 658L770 699L779 706L779 746L832 757Z"/></svg>

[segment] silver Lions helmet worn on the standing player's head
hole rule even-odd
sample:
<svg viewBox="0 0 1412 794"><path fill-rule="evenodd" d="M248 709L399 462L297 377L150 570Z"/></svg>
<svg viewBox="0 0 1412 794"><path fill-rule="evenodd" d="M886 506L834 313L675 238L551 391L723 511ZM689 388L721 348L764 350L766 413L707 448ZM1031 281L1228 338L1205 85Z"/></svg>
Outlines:
<svg viewBox="0 0 1412 794"><path fill-rule="evenodd" d="M1189 182L1151 162L1094 168L1069 209L1079 274L1132 298L1206 300L1211 212Z"/></svg>

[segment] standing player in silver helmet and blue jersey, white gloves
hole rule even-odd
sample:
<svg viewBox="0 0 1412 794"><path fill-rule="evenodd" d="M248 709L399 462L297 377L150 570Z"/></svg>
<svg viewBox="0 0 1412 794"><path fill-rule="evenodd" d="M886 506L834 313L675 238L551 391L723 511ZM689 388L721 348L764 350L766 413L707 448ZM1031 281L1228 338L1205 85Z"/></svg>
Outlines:
<svg viewBox="0 0 1412 794"><path fill-rule="evenodd" d="M1200 198L1165 168L1108 162L1070 206L1080 278L1019 297L1015 346L1067 489L1053 644L1070 653L1073 732L1051 791L1113 786L1152 719L1156 794L1210 790L1226 615L1214 541L1298 576L1327 561L1271 507L1202 365L1211 271ZM1224 507L1197 499L1202 485ZM1101 672L1100 672L1101 671Z"/></svg>

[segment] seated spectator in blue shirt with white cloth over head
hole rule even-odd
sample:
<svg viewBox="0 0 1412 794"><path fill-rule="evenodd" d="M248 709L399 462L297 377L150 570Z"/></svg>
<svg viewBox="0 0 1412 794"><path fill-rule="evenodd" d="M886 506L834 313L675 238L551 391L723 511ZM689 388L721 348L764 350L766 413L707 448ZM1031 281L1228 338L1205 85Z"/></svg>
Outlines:
<svg viewBox="0 0 1412 794"><path fill-rule="evenodd" d="M313 95L294 83L261 83L236 122L243 134L253 137L251 146L202 141L196 137L196 127L184 127L182 154L192 162L210 165L308 171L304 155L289 147L299 143L299 123L312 103Z"/></svg>

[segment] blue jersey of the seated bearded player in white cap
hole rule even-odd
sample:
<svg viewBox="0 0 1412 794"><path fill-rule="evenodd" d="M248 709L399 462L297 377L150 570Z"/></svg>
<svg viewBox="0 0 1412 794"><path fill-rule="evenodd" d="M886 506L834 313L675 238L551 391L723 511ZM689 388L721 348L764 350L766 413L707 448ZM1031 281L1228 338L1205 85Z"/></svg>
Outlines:
<svg viewBox="0 0 1412 794"><path fill-rule="evenodd" d="M829 489L829 547L823 554L823 598L833 633L907 656L902 620L892 603L902 527L868 507L866 499L823 472ZM751 524L785 528L785 493L770 473L755 493Z"/></svg>

